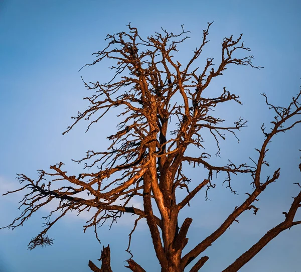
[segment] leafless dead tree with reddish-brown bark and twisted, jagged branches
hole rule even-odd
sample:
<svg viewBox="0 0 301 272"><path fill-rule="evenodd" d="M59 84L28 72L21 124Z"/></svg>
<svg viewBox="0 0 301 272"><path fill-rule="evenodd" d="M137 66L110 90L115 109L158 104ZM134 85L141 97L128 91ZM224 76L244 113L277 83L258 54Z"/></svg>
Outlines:
<svg viewBox="0 0 301 272"><path fill-rule="evenodd" d="M145 218L162 271L184 271L189 263L199 258L190 270L194 272L199 271L209 259L204 255L207 247L240 214L247 210L256 214L258 208L254 201L269 184L279 178L280 173L279 168L270 177L262 180L262 168L268 164L265 161L267 146L276 134L301 122L297 118L301 114L301 92L292 98L287 107L270 104L266 95L262 94L266 104L275 112L275 117L269 130L264 125L261 126L265 139L262 146L256 149L258 157L252 159L251 166L230 161L223 166L212 165L209 161L211 155L205 152L200 152L197 157L190 157L188 147L204 149L202 135L206 131L216 141L216 155L219 156L219 141L225 140L227 134L236 137L237 130L247 123L244 118L239 117L233 125L227 125L225 120L211 114L220 103L233 100L241 104L238 95L230 93L225 87L217 96L206 96L204 90L215 77L222 75L228 65L261 68L252 64L253 56L248 55L250 49L244 46L241 34L237 39L233 36L223 39L221 59L217 65L213 63L213 58L207 58L204 68L199 69L197 61L208 43L211 24L208 23L207 29L203 31L201 45L193 51L191 59L185 65L176 61L173 56L178 51L177 46L189 38L183 26L179 34L162 29L146 39L140 37L137 29L130 25L127 32L107 35L107 47L94 53L94 62L86 66L110 59L115 63L110 67L114 75L107 83L84 82L88 90L92 91L90 97L84 98L89 101L89 106L83 112L78 112L76 117L72 117L73 124L63 134L69 132L82 119L89 121L88 130L115 107L121 109L118 131L108 137L111 145L106 151L88 151L85 158L77 161L85 164L85 172L78 177L69 175L63 169L62 162L51 166L50 172L39 170L36 181L24 174L18 175L24 186L14 192L25 192L21 201L23 211L9 228L22 225L41 207L58 200L57 208L46 218L44 230L29 243L30 249L52 244L53 240L47 236L48 230L69 211L92 212L93 216L87 221L84 231L94 227L98 240L97 226L106 221L113 223L124 213L130 213L136 215L136 220L129 235L129 253L131 234L139 220ZM247 55L238 58L238 51L246 52ZM191 167L202 166L207 171L203 180L192 190L188 186L190 179L183 171L186 164ZM301 170L301 165L299 167ZM192 218L186 218L179 226L179 213L202 189L214 188L214 173L226 175L224 184L233 193L236 191L231 186L232 175L247 175L253 184L253 190L246 194L245 201L235 207L219 228L184 255L182 252L188 243L187 232ZM300 187L299 184L296 185ZM176 198L179 188L187 190L186 196L181 200ZM9 193L13 192L7 194ZM142 209L130 206L133 198L141 199ZM157 215L154 212L155 206L159 211ZM268 230L224 271L239 270L280 232L300 224L301 221L294 221L300 206L301 192L293 198L290 209L283 212L283 222ZM144 270L132 257L131 255L127 260L130 270L147 270L147 267ZM101 268L91 261L89 267L93 271L111 271L109 247L103 247L101 260Z"/></svg>

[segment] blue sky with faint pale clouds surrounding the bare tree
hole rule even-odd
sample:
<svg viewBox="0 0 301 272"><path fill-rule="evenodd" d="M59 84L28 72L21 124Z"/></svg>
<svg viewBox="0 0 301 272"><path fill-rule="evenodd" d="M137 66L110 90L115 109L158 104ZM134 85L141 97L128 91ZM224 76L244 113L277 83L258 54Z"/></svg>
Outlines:
<svg viewBox="0 0 301 272"><path fill-rule="evenodd" d="M105 36L126 30L131 22L143 37L160 31L181 31L184 24L191 31L181 46L179 59L187 60L202 38L202 29L214 21L210 43L203 58L220 57L220 42L225 36L243 33L245 45L252 49L254 64L263 66L229 67L209 91L226 86L240 95L243 106L228 105L218 109L225 118L244 116L248 127L238 137L222 144L221 158L250 163L256 158L254 148L260 147L263 135L260 125L272 120L273 114L265 106L260 93L266 93L272 103L283 105L299 91L301 52L301 2L298 0L253 1L98 1L98 0L0 0L0 193L18 188L17 173L37 177L37 169L64 162L68 172L79 173L82 165L71 159L80 159L85 151L107 147L106 137L114 131L116 117L107 116L85 133L88 123L79 123L70 133L61 132L71 124L70 117L85 109L82 98L86 90L81 76L87 81L106 82L109 71L105 64L85 68L93 61L91 54L105 47ZM203 59L203 60L204 60ZM181 61L180 61L181 62ZM301 182L297 169L300 162L301 127L279 135L270 145L267 160L269 168L263 179L281 167L280 178L261 195L257 215L246 211L239 224L229 230L205 252L209 260L204 271L221 271L241 253L283 220L293 196L297 194L294 182ZM211 140L210 140L211 141ZM214 154L214 142L208 149ZM198 152L198 151L194 151ZM195 185L202 169L188 169ZM205 177L205 176L204 176ZM192 217L187 250L193 248L224 221L233 208L242 203L250 192L249 177L236 177L233 186L238 196L231 194L217 179L216 188L209 192L211 201L203 193L191 202L191 207L180 214L180 221ZM192 187L193 188L193 187ZM181 193L179 194L181 197ZM21 194L0 196L0 226L5 226L19 215ZM137 203L139 205L139 203ZM69 214L53 227L49 235L54 245L28 250L32 237L41 231L43 220L51 207L37 212L23 227L0 230L0 271L89 271L88 260L100 264L100 245L92 231L83 233L85 215ZM297 214L298 218L301 214ZM300 219L299 219L300 220ZM110 244L113 271L127 271L124 267L129 254L125 252L133 217L121 218L109 230L100 229L103 245ZM301 228L284 231L262 249L240 271L295 272L301 267ZM131 246L134 260L146 271L159 271L159 263L145 223L138 226Z"/></svg>

